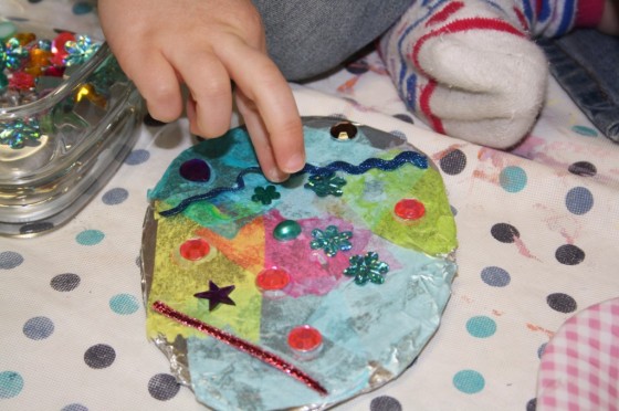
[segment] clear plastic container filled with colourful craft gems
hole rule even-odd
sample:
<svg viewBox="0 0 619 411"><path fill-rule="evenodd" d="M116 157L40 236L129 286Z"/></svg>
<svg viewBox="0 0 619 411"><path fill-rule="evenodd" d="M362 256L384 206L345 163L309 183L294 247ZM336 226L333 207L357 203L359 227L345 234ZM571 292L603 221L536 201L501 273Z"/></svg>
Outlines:
<svg viewBox="0 0 619 411"><path fill-rule="evenodd" d="M115 173L144 104L104 42L10 24L0 20L0 235L32 236Z"/></svg>

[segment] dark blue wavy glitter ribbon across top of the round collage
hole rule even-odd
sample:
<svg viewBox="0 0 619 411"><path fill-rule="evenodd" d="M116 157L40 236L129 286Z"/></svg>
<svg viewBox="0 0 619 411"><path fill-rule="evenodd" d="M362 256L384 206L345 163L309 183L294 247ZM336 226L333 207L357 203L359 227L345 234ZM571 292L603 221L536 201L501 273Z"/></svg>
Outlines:
<svg viewBox="0 0 619 411"><path fill-rule="evenodd" d="M421 169L426 169L428 168L428 157L426 157L422 154L419 154L417 151L402 151L400 154L398 154L396 157L394 157L392 160L384 160L381 158L368 158L367 160L364 160L361 164L359 164L358 166L352 165L349 162L346 161L333 161L332 164L324 166L324 167L317 167L317 166L313 166L311 164L306 164L305 167L303 167L302 170L295 172L293 176L300 176L300 175L304 175L304 173L310 173L312 176L326 176L326 175L331 175L335 171L344 171L347 172L349 175L363 175L374 168L377 168L379 170L382 171L392 171L396 170L398 168L400 168L401 166L403 166L405 164L411 164L417 166L418 168ZM195 202L198 201L203 201L203 200L210 200L213 199L224 192L232 192L232 191L239 191L245 188L245 181L243 179L243 177L245 175L249 173L261 173L262 170L260 169L260 167L249 167L245 168L244 170L242 170L241 172L239 172L239 175L237 176L237 183L232 187L218 187L214 188L203 194L197 194L197 196L191 196L186 198L185 200L182 200L181 202L178 203L178 205L169 209L169 210L165 210L165 211L160 211L159 215L161 217L172 217L176 215L182 211L185 211L189 205L191 205Z"/></svg>

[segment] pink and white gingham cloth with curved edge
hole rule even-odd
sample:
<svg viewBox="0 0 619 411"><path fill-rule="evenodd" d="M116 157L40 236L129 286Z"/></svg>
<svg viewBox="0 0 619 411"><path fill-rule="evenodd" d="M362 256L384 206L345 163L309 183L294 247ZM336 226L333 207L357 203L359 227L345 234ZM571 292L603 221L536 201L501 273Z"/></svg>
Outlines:
<svg viewBox="0 0 619 411"><path fill-rule="evenodd" d="M619 298L578 313L548 342L537 410L619 410Z"/></svg>

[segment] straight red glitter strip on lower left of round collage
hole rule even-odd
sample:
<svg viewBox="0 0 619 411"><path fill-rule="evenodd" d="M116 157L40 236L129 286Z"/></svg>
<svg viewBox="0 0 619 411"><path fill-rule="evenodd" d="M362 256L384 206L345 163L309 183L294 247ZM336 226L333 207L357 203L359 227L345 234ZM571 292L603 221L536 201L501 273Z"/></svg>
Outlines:
<svg viewBox="0 0 619 411"><path fill-rule="evenodd" d="M202 331L222 342L228 344L229 346L237 348L240 351L243 351L254 358L262 360L269 366L274 367L280 371L303 382L305 386L310 387L314 391L317 391L321 396L328 394L328 391L323 386L321 386L318 381L314 380L312 377L307 376L305 372L303 372L292 363L286 362L284 359L277 357L274 354L265 351L264 349L260 348L256 345L245 341L244 339L235 337L217 327L202 323L197 318L192 318L183 313L177 312L176 309L174 309L172 307L170 307L164 302L153 303L153 309L155 309L159 314L165 315L168 318L176 320L177 323L183 324L188 327Z"/></svg>

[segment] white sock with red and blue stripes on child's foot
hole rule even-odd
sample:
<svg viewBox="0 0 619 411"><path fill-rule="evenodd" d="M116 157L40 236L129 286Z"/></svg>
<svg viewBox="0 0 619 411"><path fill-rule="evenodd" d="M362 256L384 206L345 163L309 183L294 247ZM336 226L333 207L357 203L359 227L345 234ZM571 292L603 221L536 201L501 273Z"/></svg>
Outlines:
<svg viewBox="0 0 619 411"><path fill-rule="evenodd" d="M563 1L535 11L524 3L415 1L380 41L409 108L452 137L495 148L518 143L539 114L548 78L529 38L568 30L575 19L554 12Z"/></svg>

